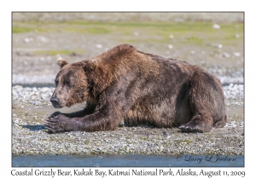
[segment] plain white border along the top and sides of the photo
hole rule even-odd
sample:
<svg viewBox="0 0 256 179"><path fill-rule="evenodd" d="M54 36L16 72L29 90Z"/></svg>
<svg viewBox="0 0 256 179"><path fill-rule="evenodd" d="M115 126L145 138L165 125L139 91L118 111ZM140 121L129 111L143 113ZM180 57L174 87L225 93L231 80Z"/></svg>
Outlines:
<svg viewBox="0 0 256 179"><path fill-rule="evenodd" d="M252 1L251 1L252 2ZM188 5L187 5L188 4ZM246 1L9 1L1 8L1 176L11 176L11 12L12 11L244 11L245 12L245 168L246 177L254 175L253 111L255 108L255 10L254 4ZM254 103L253 103L254 102ZM207 168L207 170L217 170ZM63 170L67 170L63 169ZM107 170L107 169L106 169ZM196 170L196 169L194 169ZM200 170L200 169L199 169ZM7 178L6 177L6 178ZM198 177L196 177L198 178ZM253 177L251 177L253 178Z"/></svg>

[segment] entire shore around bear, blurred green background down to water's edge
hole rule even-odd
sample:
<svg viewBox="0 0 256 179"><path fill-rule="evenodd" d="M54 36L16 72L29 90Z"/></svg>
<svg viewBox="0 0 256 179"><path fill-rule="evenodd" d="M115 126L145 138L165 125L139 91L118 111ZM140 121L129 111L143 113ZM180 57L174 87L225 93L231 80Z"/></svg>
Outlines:
<svg viewBox="0 0 256 179"><path fill-rule="evenodd" d="M244 38L242 13L13 13L12 153L14 155L244 154ZM62 56L89 59L119 43L187 61L217 76L228 123L207 133L177 128L48 134L44 120ZM58 109L72 113L84 104Z"/></svg>

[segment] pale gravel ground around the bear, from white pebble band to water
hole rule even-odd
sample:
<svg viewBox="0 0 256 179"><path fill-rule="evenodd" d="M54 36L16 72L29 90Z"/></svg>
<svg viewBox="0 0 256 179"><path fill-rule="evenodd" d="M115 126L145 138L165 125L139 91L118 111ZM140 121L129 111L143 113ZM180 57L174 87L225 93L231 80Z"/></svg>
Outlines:
<svg viewBox="0 0 256 179"><path fill-rule="evenodd" d="M228 124L208 133L182 133L177 128L119 127L104 132L49 135L44 119L55 109L49 97L55 88L13 86L13 154L236 154L244 153L243 85L224 86ZM78 111L83 104L62 109ZM231 111L231 112L230 112ZM236 111L237 114L234 114ZM230 115L229 115L230 114ZM121 125L120 125L121 126Z"/></svg>

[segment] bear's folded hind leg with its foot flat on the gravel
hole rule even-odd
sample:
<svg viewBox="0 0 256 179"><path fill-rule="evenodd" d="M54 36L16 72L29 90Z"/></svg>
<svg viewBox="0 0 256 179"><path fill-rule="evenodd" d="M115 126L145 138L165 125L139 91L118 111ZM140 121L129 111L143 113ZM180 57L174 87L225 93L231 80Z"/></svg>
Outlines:
<svg viewBox="0 0 256 179"><path fill-rule="evenodd" d="M189 86L189 104L193 117L189 123L182 124L179 129L185 132L211 131L221 92L216 78L207 72L196 70L190 78Z"/></svg>

